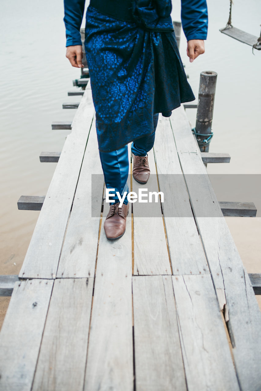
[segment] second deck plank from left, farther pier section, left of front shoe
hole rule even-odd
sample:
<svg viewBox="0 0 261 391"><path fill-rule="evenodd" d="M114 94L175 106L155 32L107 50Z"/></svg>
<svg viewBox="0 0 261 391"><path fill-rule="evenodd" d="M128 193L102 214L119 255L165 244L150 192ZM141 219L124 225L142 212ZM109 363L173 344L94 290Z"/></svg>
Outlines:
<svg viewBox="0 0 261 391"><path fill-rule="evenodd" d="M94 118L63 242L58 277L94 277L103 184Z"/></svg>

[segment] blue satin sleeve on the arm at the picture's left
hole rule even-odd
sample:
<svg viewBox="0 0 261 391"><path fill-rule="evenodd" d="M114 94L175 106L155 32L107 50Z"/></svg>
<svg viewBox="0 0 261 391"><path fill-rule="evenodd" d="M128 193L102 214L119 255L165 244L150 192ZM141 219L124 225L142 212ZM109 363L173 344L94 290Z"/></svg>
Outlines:
<svg viewBox="0 0 261 391"><path fill-rule="evenodd" d="M85 0L63 0L64 18L66 29L66 47L82 45L80 28L84 13Z"/></svg>

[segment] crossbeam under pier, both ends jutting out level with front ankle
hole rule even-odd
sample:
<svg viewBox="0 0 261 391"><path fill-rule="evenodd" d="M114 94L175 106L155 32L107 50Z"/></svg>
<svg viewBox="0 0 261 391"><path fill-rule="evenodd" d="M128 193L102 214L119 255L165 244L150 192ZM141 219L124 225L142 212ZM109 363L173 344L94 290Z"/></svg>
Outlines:
<svg viewBox="0 0 261 391"><path fill-rule="evenodd" d="M41 210L44 195L21 195L17 201L20 210ZM256 217L256 206L252 202L219 201L224 216L230 217Z"/></svg>

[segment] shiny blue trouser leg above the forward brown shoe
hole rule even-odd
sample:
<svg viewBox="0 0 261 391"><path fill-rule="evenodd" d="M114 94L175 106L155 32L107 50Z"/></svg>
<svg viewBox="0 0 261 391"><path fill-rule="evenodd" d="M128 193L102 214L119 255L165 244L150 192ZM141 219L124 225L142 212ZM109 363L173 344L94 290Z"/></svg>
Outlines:
<svg viewBox="0 0 261 391"><path fill-rule="evenodd" d="M101 167L104 174L104 181L107 189L114 188L115 192L109 192L110 194L115 193L114 202L119 202L119 198L116 195L118 191L122 196L124 192L129 191L127 179L129 175L129 156L128 156L128 145L123 148L117 149L111 152L101 152ZM127 195L123 201L124 204L128 203ZM111 205L112 203L110 203Z"/></svg>

